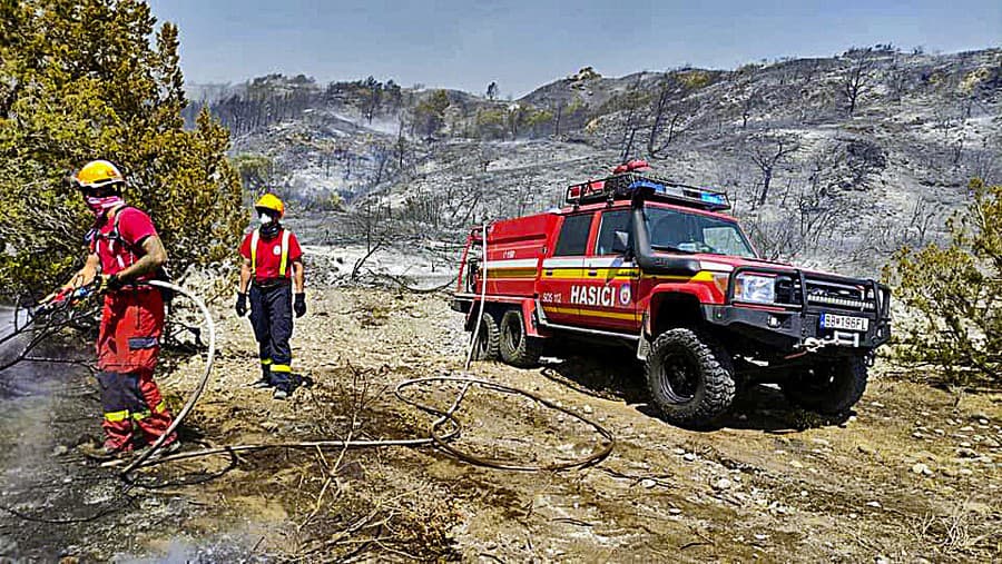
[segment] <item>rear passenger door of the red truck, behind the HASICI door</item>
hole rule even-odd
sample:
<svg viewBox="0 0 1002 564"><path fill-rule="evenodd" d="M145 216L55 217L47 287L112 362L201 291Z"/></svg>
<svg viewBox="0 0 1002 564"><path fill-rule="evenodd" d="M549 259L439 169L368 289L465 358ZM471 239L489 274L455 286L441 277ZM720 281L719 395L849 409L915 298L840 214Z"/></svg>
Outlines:
<svg viewBox="0 0 1002 564"><path fill-rule="evenodd" d="M542 261L539 299L550 323L578 325L571 288L583 277L584 253L595 212L566 216L553 253Z"/></svg>

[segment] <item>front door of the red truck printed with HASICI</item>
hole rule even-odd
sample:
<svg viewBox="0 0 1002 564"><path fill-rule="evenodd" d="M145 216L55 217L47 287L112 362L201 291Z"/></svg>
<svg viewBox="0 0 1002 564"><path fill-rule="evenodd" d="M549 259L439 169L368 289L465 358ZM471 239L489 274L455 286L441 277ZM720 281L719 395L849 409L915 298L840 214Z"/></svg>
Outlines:
<svg viewBox="0 0 1002 564"><path fill-rule="evenodd" d="M589 327L635 334L640 270L616 245L617 231L630 232L630 211L602 211L592 251L584 257L584 283L573 295L580 319Z"/></svg>

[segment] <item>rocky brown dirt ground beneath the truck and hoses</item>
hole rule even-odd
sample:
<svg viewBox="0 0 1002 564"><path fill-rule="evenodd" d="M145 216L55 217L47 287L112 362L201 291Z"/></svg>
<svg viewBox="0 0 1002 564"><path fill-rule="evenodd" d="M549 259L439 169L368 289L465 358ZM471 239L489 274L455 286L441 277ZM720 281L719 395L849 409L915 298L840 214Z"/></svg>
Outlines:
<svg viewBox="0 0 1002 564"><path fill-rule="evenodd" d="M219 317L217 369L186 426L186 449L425 437L433 418L397 400L395 385L463 374L461 317L443 295L312 294L293 345L313 385L287 402L247 387L257 370L249 326L229 311ZM87 425L97 434L97 420L67 423L66 413L94 398L57 394L37 416L62 420L42 425L51 437L31 456L2 456L0 501L28 517L88 516L109 503L120 511L82 524L2 515L0 558L986 562L1002 553L1002 395L951 395L878 369L842 422L759 387L721 429L690 432L646 405L628 352L563 356L540 369L474 363L470 372L615 435L603 462L563 472L491 469L431 447L273 448L165 464L121 497L110 471L72 449ZM193 358L165 370L174 405L200 366ZM406 390L443 409L459 392ZM546 465L602 445L572 417L479 387L455 415L464 427L453 445L478 456ZM4 423L2 439L22 432ZM42 461L36 479L47 476L48 493L24 485L28 458ZM51 493L59 483L69 486Z"/></svg>

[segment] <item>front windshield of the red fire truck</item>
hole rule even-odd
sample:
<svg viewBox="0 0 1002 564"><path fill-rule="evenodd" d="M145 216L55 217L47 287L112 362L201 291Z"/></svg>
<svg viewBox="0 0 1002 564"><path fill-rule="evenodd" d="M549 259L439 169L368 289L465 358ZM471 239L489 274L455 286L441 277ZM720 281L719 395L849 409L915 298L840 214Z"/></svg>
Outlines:
<svg viewBox="0 0 1002 564"><path fill-rule="evenodd" d="M645 215L655 249L758 258L736 221L655 206Z"/></svg>

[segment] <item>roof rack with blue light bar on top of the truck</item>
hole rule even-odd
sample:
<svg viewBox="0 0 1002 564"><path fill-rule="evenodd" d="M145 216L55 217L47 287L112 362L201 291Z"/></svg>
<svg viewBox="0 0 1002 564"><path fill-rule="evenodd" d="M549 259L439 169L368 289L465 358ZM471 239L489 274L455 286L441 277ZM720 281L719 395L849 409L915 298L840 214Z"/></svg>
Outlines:
<svg viewBox="0 0 1002 564"><path fill-rule="evenodd" d="M572 206L611 199L630 198L638 190L647 190L650 198L687 207L723 211L730 209L727 194L667 180L652 179L636 174L616 175L602 180L569 186L567 202Z"/></svg>

